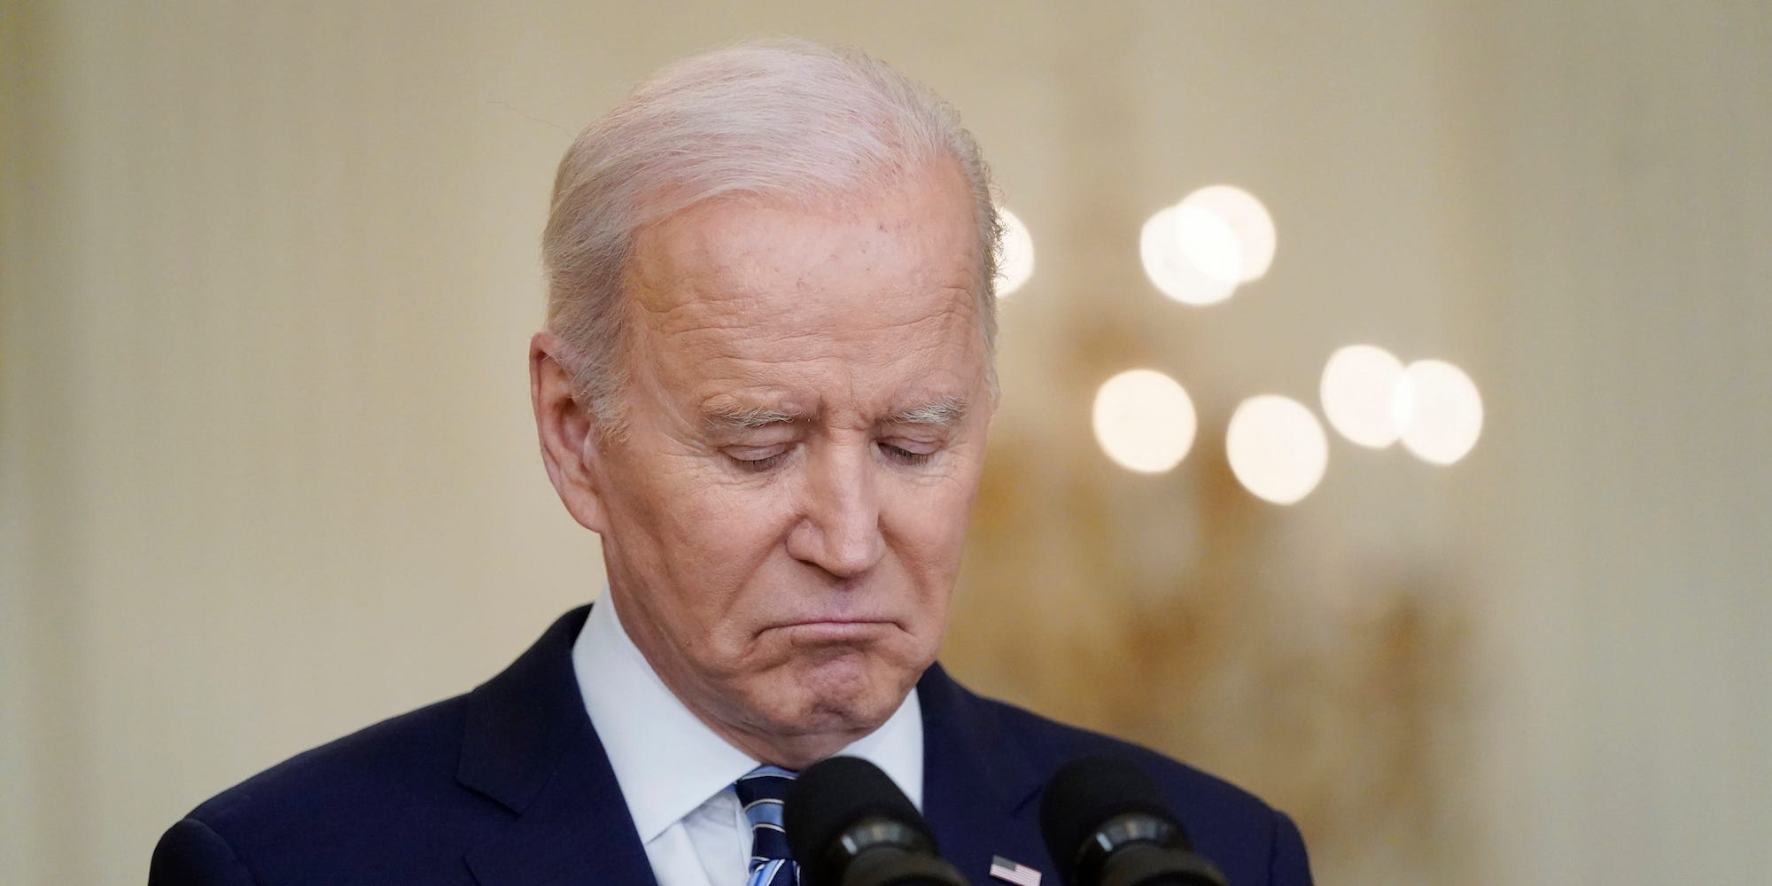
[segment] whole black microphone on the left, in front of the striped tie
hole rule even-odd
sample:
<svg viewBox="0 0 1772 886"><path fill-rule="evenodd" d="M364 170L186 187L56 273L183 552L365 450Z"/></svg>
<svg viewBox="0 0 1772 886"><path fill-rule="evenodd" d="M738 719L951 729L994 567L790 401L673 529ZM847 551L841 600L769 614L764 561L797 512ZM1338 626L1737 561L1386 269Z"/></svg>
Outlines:
<svg viewBox="0 0 1772 886"><path fill-rule="evenodd" d="M911 799L858 757L808 766L781 820L801 886L966 886Z"/></svg>

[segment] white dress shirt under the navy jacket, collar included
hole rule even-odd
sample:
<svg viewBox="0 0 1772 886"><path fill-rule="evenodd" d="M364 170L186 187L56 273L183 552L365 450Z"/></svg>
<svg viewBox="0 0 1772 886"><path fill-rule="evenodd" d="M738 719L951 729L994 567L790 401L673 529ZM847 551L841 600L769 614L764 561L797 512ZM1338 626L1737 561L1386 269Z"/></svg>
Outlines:
<svg viewBox="0 0 1772 886"><path fill-rule="evenodd" d="M744 886L751 826L732 783L758 766L707 728L659 680L610 594L572 643L572 673L659 886ZM879 766L923 808L923 709L916 689L881 728L840 753Z"/></svg>

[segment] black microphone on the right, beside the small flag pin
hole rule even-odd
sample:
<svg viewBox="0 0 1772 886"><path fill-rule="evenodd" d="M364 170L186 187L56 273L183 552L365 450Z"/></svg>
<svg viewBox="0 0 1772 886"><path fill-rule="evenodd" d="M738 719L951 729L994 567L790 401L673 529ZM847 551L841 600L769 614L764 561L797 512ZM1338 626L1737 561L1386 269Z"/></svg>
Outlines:
<svg viewBox="0 0 1772 886"><path fill-rule="evenodd" d="M1065 886L1224 886L1150 776L1120 757L1058 767L1040 797L1040 833Z"/></svg>

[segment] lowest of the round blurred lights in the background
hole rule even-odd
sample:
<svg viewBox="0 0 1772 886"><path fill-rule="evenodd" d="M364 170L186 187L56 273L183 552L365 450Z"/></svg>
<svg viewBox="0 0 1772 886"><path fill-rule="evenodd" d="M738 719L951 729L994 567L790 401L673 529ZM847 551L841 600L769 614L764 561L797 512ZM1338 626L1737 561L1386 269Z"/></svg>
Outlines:
<svg viewBox="0 0 1772 886"><path fill-rule="evenodd" d="M1224 431L1237 482L1256 498L1292 505L1317 489L1329 468L1329 438L1299 400L1263 393L1237 406Z"/></svg>

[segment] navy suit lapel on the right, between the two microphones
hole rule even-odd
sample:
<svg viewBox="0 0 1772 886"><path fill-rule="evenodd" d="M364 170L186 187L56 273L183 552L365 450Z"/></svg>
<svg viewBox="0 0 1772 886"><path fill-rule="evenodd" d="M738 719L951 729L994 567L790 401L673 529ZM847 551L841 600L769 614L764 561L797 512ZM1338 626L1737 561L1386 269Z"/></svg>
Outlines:
<svg viewBox="0 0 1772 886"><path fill-rule="evenodd" d="M943 858L971 882L991 881L991 858L1040 868L1035 799L1042 773L1008 741L996 712L934 664L916 686L923 709L923 817Z"/></svg>

